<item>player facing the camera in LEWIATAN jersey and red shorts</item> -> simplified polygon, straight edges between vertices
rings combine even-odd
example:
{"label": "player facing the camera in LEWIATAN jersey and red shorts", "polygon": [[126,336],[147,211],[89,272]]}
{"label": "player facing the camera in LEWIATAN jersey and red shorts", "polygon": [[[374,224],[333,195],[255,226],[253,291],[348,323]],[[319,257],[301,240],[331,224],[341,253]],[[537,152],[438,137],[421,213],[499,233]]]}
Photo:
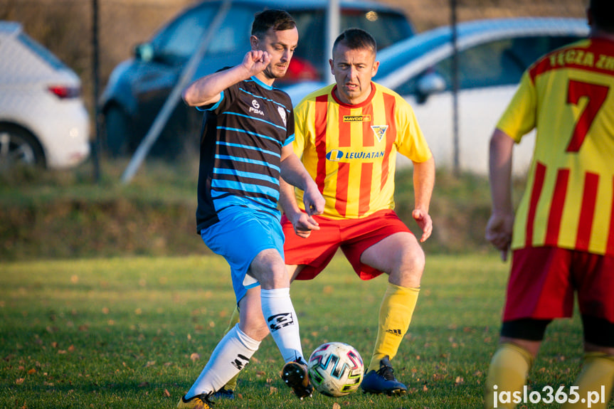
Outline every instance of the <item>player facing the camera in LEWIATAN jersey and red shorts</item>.
{"label": "player facing the camera in LEWIATAN jersey and red shorts", "polygon": [[403,394],[407,387],[396,380],[391,360],[411,322],[425,255],[393,210],[396,154],[413,161],[412,216],[423,230],[420,242],[433,228],[428,209],[435,161],[411,106],[371,80],[379,67],[374,38],[350,28],[334,42],[332,57],[335,83],[297,105],[292,144],[326,205],[322,215],[312,216],[302,204],[304,193],[282,183],[286,265],[293,280],[311,280],[341,248],[361,280],[388,275],[361,388]]}

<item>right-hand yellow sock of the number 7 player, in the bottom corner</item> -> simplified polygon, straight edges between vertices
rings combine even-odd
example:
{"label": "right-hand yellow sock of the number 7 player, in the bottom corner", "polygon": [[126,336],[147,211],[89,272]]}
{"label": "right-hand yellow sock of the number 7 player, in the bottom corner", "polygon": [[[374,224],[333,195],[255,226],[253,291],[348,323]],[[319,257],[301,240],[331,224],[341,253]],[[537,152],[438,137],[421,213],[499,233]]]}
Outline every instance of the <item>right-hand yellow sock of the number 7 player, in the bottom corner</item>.
{"label": "right-hand yellow sock of the number 7 player, in the bottom corner", "polygon": [[[614,383],[614,356],[602,352],[584,354],[582,370],[573,386],[578,386],[578,402],[564,403],[561,409],[591,408],[605,409],[610,402]],[[586,400],[583,403],[583,400]]]}

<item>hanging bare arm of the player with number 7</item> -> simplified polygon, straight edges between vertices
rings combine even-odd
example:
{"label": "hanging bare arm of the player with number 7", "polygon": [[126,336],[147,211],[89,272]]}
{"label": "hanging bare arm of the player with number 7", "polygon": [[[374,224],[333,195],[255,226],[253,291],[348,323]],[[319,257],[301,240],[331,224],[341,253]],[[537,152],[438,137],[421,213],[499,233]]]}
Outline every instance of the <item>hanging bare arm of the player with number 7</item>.
{"label": "hanging bare arm of the player with number 7", "polygon": [[514,139],[500,129],[490,138],[489,178],[492,213],[486,225],[486,240],[507,260],[512,243],[514,209],[512,206],[512,150]]}

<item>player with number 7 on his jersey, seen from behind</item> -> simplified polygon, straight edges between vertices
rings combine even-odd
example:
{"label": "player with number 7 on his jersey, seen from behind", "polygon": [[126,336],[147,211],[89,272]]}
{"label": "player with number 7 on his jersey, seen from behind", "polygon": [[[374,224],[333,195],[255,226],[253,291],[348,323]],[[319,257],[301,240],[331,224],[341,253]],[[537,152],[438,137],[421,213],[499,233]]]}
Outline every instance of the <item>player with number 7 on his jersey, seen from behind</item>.
{"label": "player with number 7 on his jersey, seen from behind", "polygon": [[[586,40],[526,70],[490,141],[493,204],[486,238],[504,260],[511,247],[512,267],[485,408],[516,406],[507,398],[522,391],[546,326],[571,317],[574,293],[584,333],[574,382],[581,399],[562,408],[586,408],[587,393],[602,387],[606,396],[591,407],[608,407],[614,383],[614,2],[591,0],[587,16]],[[534,128],[534,156],[514,217],[513,145]]]}

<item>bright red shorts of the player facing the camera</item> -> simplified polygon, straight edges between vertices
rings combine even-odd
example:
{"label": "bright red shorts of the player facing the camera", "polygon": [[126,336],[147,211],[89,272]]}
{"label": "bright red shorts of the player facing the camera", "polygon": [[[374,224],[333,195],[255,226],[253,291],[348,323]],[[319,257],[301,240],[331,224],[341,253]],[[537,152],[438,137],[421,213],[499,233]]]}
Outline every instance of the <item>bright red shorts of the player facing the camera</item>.
{"label": "bright red shorts of the player facing the camera", "polygon": [[319,230],[313,230],[308,238],[302,238],[295,234],[292,223],[282,216],[285,263],[305,265],[297,280],[312,280],[316,277],[332,260],[338,248],[341,248],[361,280],[371,280],[380,275],[381,271],[361,263],[362,252],[394,233],[411,233],[391,210],[377,211],[359,219],[314,218],[319,224]]}

